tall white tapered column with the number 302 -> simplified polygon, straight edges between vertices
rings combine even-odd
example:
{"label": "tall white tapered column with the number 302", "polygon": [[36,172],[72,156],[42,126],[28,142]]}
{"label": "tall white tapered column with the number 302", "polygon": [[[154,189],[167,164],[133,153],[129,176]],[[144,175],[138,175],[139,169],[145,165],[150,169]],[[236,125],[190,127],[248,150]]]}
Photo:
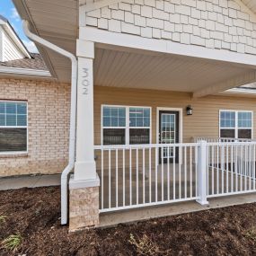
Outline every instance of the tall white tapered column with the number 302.
{"label": "tall white tapered column with the number 302", "polygon": [[77,40],[77,119],[75,181],[97,179],[94,161],[93,58],[94,43]]}

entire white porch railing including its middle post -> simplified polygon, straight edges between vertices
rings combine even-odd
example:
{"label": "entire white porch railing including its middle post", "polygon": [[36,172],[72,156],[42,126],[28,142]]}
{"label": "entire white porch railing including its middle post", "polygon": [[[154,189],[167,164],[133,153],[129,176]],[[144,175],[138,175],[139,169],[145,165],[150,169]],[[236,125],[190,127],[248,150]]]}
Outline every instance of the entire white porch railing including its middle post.
{"label": "entire white porch railing including its middle post", "polygon": [[94,146],[100,212],[256,192],[256,142]]}

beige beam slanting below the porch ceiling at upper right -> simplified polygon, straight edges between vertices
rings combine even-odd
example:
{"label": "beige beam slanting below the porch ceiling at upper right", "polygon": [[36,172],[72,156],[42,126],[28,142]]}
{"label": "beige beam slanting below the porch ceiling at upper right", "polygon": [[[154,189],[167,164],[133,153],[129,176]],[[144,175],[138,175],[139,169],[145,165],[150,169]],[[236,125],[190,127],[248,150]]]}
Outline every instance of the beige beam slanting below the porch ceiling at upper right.
{"label": "beige beam slanting below the porch ceiling at upper right", "polygon": [[204,87],[193,93],[193,98],[199,98],[207,96],[214,93],[224,92],[225,90],[238,87],[244,84],[251,84],[256,81],[256,71],[245,73],[244,75],[238,75],[232,79],[226,80],[222,83],[212,84],[210,86]]}

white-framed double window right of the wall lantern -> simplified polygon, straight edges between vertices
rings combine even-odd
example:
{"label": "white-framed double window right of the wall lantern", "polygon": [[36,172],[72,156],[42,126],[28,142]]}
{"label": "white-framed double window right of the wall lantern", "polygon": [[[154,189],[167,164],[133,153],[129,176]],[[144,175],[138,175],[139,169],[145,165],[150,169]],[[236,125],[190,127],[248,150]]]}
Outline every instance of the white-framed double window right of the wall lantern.
{"label": "white-framed double window right of the wall lantern", "polygon": [[252,111],[220,111],[220,137],[252,138]]}

